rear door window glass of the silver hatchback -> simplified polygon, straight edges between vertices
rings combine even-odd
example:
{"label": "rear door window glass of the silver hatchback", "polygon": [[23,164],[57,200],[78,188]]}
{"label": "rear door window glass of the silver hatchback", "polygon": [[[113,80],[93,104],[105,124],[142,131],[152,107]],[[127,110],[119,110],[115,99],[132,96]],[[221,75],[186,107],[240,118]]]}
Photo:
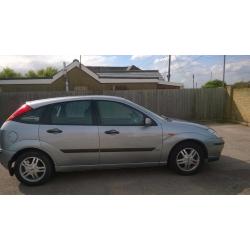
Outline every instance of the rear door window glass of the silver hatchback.
{"label": "rear door window glass of the silver hatchback", "polygon": [[50,123],[55,125],[92,125],[90,101],[57,103],[51,107]]}

